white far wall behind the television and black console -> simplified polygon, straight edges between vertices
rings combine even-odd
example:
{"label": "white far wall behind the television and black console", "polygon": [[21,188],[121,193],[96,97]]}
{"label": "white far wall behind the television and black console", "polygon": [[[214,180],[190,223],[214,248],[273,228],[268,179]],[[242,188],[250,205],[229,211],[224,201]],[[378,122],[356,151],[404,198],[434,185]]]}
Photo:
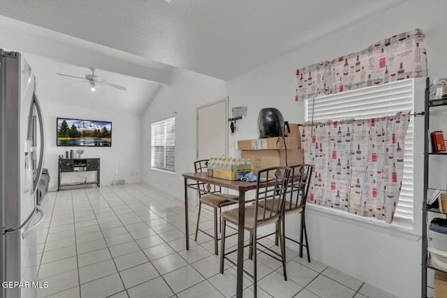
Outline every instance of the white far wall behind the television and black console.
{"label": "white far wall behind the television and black console", "polygon": [[[57,117],[112,121],[112,147],[82,147],[85,149],[82,157],[101,158],[101,185],[110,185],[113,180],[118,179],[124,179],[126,183],[142,181],[142,115],[117,110],[46,104],[45,96],[50,95],[40,94],[39,99],[42,101],[45,121],[44,167],[50,172],[49,191],[57,189],[57,156],[65,156],[65,151],[78,149],[56,146]],[[86,175],[89,175],[89,179],[94,179],[94,172],[71,173],[63,174],[62,183],[82,181],[78,176]]]}

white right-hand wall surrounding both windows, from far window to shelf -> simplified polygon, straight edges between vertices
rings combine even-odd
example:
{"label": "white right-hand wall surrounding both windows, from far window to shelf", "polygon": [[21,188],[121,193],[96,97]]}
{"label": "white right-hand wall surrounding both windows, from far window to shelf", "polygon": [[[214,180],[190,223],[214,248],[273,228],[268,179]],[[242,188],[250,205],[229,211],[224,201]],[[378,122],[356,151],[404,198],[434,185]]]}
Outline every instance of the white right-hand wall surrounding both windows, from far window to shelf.
{"label": "white right-hand wall surrounding both windows, from far window to shelf", "polygon": [[[446,77],[447,49],[445,29],[447,2],[444,0],[406,1],[381,15],[342,31],[332,32],[314,43],[279,57],[249,73],[227,82],[230,107],[247,106],[247,117],[237,121],[237,131],[230,137],[244,140],[257,137],[256,120],[263,107],[277,107],[284,119],[291,123],[303,121],[303,105],[296,103],[295,70],[318,61],[365,49],[377,40],[397,33],[420,28],[425,33],[430,77]],[[305,28],[304,28],[305,29]],[[303,29],[303,30],[304,30]],[[328,28],[328,31],[330,29]],[[272,41],[274,42],[274,41]],[[183,197],[182,172],[191,172],[195,156],[196,129],[195,108],[226,96],[225,84],[212,87],[193,73],[178,71],[175,83],[163,87],[160,94],[145,114],[145,181],[177,198]],[[203,80],[203,81],[202,81]],[[193,84],[191,84],[193,81]],[[217,87],[217,88],[216,88]],[[199,90],[207,96],[194,96]],[[184,94],[184,96],[180,96]],[[185,100],[184,100],[185,99]],[[150,170],[150,123],[170,117],[177,110],[177,174]],[[148,139],[149,138],[149,139]],[[237,142],[235,142],[237,144]],[[229,148],[231,156],[239,154],[235,147]],[[416,158],[422,159],[420,155]],[[418,163],[416,171],[422,171]],[[415,184],[415,194],[422,193],[422,181]],[[414,232],[399,228],[362,224],[349,218],[338,218],[318,210],[309,209],[307,223],[312,258],[335,269],[355,276],[398,297],[420,297],[421,244],[420,244],[420,196],[416,195]],[[289,219],[296,222],[296,218]],[[289,227],[291,225],[289,224]],[[416,233],[416,235],[414,234]]]}

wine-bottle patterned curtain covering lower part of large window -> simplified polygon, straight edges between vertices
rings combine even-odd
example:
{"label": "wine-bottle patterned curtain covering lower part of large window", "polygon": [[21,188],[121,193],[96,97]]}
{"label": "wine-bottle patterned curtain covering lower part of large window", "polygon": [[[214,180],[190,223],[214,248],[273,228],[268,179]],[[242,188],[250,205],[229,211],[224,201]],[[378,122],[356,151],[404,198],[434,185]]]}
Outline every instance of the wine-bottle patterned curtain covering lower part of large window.
{"label": "wine-bottle patterned curtain covering lower part of large window", "polygon": [[404,172],[410,113],[304,124],[305,163],[314,165],[309,201],[393,221]]}

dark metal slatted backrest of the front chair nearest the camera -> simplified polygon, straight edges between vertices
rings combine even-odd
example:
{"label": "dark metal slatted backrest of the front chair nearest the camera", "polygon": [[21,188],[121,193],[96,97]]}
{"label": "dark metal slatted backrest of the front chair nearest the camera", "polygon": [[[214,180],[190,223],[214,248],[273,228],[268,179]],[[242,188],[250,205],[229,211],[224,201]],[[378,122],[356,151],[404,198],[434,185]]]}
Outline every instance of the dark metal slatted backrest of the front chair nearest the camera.
{"label": "dark metal slatted backrest of the front chair nearest the camera", "polygon": [[[272,221],[283,214],[290,174],[291,168],[282,166],[268,167],[258,171],[254,217],[256,225]],[[268,201],[272,204],[265,208]]]}

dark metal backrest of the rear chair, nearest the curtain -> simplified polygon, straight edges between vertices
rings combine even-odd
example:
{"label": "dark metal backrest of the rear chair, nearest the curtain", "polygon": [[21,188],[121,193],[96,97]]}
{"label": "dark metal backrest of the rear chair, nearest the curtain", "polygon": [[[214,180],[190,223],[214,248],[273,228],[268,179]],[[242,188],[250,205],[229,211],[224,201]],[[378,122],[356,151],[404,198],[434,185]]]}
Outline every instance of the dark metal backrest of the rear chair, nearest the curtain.
{"label": "dark metal backrest of the rear chair, nearest the curtain", "polygon": [[287,188],[285,210],[304,208],[309,194],[313,165],[291,165],[291,177]]}

